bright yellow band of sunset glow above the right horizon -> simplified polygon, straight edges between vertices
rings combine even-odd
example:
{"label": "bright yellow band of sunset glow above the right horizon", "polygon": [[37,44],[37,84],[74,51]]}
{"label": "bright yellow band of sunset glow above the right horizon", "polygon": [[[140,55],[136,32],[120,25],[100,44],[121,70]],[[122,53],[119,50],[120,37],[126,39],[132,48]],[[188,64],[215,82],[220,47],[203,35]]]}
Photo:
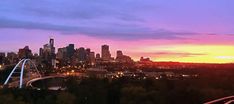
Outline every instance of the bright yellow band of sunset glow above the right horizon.
{"label": "bright yellow band of sunset glow above the right horizon", "polygon": [[155,57],[152,57],[153,54],[149,55],[154,61],[234,63],[234,46],[172,45],[167,48],[150,48],[149,50],[153,49],[161,51],[155,50]]}

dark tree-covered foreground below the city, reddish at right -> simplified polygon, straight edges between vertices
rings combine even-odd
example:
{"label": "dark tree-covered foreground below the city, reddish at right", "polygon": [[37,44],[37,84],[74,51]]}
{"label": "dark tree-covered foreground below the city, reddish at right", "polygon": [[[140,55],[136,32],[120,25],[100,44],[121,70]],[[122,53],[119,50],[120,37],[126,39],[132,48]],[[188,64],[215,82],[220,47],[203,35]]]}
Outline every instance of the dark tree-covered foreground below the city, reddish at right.
{"label": "dark tree-covered foreground below the city, reddish at right", "polygon": [[234,95],[234,69],[178,71],[199,77],[176,80],[91,77],[81,82],[70,77],[65,91],[0,89],[0,104],[202,104]]}

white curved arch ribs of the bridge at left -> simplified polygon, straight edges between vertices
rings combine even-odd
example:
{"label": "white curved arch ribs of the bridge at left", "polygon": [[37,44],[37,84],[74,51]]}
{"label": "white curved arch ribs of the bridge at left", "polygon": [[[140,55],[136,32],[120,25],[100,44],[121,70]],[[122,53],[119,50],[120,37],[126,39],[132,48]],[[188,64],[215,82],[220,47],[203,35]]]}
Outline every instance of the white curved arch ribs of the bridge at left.
{"label": "white curved arch ribs of the bridge at left", "polygon": [[20,70],[20,82],[19,82],[19,88],[22,88],[22,86],[23,86],[23,75],[24,75],[24,70],[25,70],[24,68],[25,68],[25,64],[27,62],[28,62],[28,64],[31,64],[31,65],[34,66],[35,71],[37,72],[39,77],[41,77],[41,74],[39,73],[36,65],[30,59],[22,59],[15,65],[14,69],[11,71],[10,75],[7,77],[4,85],[8,84],[8,82],[9,82],[10,78],[12,77],[13,73],[15,73],[16,69],[20,66],[20,64],[22,64],[21,65],[21,70]]}

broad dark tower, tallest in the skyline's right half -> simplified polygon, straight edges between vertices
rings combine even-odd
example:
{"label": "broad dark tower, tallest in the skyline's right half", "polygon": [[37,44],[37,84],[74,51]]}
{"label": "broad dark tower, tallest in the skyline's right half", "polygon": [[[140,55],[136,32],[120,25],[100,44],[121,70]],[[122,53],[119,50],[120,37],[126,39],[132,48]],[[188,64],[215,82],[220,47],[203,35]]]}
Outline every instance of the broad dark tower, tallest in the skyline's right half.
{"label": "broad dark tower, tallest in the skyline's right half", "polygon": [[102,45],[102,59],[109,61],[111,59],[111,54],[108,45]]}

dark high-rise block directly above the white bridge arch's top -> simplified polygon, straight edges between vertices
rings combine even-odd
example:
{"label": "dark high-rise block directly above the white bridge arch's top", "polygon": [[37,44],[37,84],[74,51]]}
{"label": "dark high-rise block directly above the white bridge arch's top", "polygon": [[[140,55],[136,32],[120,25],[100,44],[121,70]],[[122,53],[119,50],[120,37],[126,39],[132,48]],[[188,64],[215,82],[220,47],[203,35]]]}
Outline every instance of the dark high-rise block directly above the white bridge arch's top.
{"label": "dark high-rise block directly above the white bridge arch's top", "polygon": [[20,59],[31,58],[32,57],[32,51],[29,49],[28,46],[25,46],[24,48],[19,49],[18,57]]}

